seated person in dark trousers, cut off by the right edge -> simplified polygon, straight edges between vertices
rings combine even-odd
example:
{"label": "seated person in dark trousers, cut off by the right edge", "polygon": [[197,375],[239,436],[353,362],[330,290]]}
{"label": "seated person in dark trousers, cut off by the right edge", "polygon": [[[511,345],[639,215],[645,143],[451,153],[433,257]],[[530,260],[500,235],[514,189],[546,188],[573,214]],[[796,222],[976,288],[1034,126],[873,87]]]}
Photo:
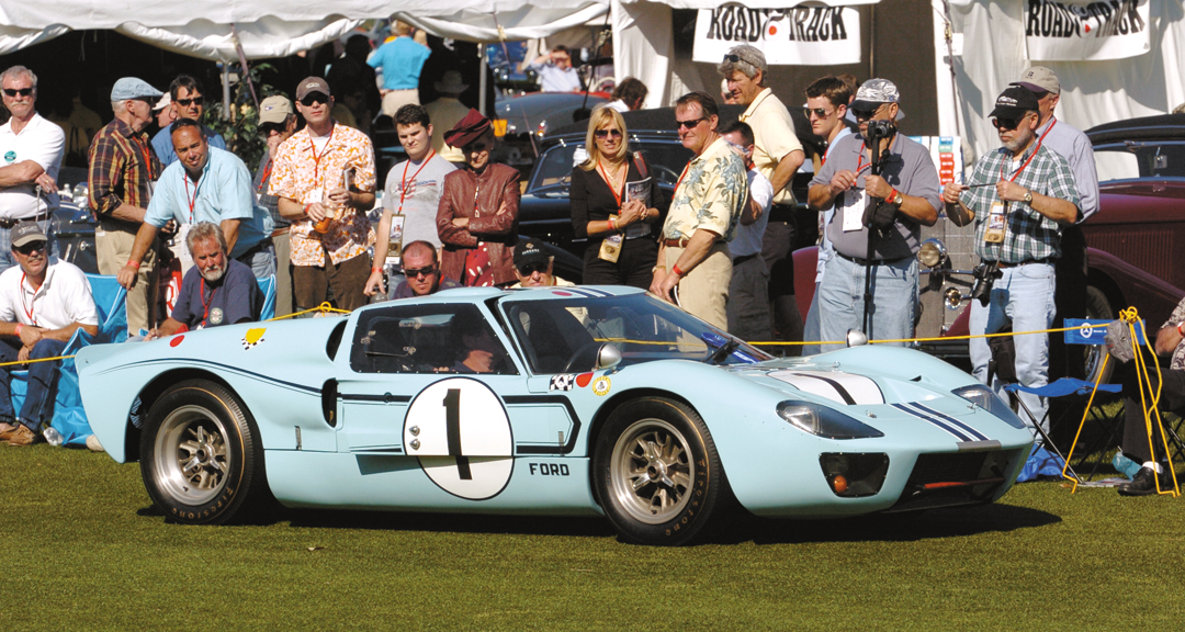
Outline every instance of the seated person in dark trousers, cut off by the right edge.
{"label": "seated person in dark trousers, cut off by the right edge", "polygon": [[[1173,315],[1160,326],[1157,333],[1157,353],[1166,356],[1173,355],[1173,362],[1167,371],[1161,370],[1164,379],[1160,384],[1160,410],[1180,410],[1185,408],[1185,299],[1177,304]],[[1157,379],[1157,371],[1149,370],[1148,377]],[[1130,483],[1119,486],[1119,493],[1123,496],[1145,496],[1173,489],[1172,470],[1167,467],[1165,460],[1165,442],[1160,435],[1160,420],[1157,413],[1152,414],[1152,428],[1144,420],[1144,404],[1140,397],[1140,385],[1135,378],[1135,371],[1128,371],[1123,381],[1123,453],[1135,462],[1142,464],[1140,471]],[[1155,383],[1152,390],[1155,391]],[[1145,395],[1147,398],[1147,395]],[[1149,434],[1151,433],[1151,434]],[[1155,453],[1155,459],[1153,459]]]}

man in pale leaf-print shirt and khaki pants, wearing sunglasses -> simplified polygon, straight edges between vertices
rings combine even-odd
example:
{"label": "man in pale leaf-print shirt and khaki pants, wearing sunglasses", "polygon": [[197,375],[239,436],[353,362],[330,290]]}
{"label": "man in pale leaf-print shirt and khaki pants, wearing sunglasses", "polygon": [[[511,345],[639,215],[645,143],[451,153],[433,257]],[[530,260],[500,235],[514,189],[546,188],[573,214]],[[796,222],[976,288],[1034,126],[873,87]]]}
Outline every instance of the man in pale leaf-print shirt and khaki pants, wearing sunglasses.
{"label": "man in pale leaf-print shirt and khaki pants, wearing sunglasses", "polygon": [[675,102],[679,140],[696,158],[684,167],[671,198],[651,292],[726,330],[732,280],[728,242],[736,235],[749,179],[744,160],[717,133],[718,111],[706,92]]}

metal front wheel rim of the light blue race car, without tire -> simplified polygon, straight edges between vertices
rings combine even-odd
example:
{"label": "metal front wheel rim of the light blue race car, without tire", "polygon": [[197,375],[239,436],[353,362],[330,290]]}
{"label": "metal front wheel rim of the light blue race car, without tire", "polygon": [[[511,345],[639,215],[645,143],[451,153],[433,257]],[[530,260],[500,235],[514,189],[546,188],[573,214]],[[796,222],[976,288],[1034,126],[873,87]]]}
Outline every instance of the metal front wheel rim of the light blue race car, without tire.
{"label": "metal front wheel rim of the light blue race car, without tire", "polygon": [[687,505],[696,464],[687,439],[658,419],[640,420],[621,433],[609,464],[610,491],[632,518],[660,524]]}

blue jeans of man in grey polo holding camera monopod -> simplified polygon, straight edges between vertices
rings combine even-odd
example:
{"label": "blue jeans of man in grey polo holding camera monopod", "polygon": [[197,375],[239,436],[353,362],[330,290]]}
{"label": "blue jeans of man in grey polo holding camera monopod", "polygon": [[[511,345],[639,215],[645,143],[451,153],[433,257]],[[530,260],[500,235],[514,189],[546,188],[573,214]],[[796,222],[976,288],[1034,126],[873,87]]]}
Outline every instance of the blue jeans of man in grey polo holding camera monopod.
{"label": "blue jeans of man in grey polo holding camera monopod", "polygon": [[[865,267],[839,256],[831,257],[815,294],[819,304],[819,338],[839,341],[847,330],[864,331]],[[870,340],[898,340],[914,336],[917,313],[917,257],[899,258],[872,267]],[[893,343],[905,346],[905,343]],[[821,345],[822,351],[843,345]]]}

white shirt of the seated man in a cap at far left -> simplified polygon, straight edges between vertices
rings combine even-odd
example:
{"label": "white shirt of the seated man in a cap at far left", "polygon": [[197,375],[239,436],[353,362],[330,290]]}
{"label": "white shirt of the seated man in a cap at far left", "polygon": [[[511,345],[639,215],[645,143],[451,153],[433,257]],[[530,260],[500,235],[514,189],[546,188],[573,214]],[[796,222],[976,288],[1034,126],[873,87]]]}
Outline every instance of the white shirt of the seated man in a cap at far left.
{"label": "white shirt of the seated man in a cap at far left", "polygon": [[59,330],[73,323],[98,325],[98,312],[87,275],[73,263],[50,257],[45,282],[36,291],[20,266],[0,274],[0,321]]}

